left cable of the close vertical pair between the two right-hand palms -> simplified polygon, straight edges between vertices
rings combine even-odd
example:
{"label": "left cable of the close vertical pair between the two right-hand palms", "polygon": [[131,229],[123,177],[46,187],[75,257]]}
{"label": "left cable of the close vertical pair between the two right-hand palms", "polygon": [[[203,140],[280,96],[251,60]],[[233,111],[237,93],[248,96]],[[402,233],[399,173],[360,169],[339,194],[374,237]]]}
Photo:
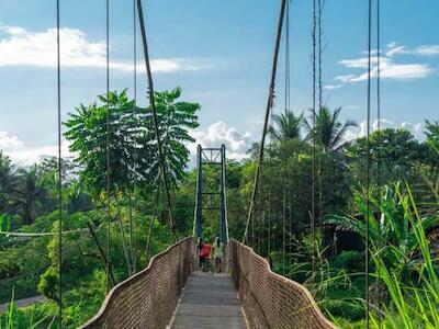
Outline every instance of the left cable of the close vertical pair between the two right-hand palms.
{"label": "left cable of the close vertical pair between the two right-hand palms", "polygon": [[313,181],[312,181],[312,209],[311,209],[311,227],[313,238],[313,256],[312,262],[312,274],[314,277],[315,273],[315,253],[316,253],[316,229],[315,229],[315,196],[316,196],[316,1],[313,1]]}

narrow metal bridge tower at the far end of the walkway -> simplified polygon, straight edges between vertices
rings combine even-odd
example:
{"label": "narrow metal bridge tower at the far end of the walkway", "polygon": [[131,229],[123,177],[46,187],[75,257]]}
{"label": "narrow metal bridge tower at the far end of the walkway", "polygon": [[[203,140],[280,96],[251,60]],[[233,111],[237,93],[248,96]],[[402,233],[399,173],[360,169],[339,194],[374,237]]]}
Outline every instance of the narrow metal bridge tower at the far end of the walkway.
{"label": "narrow metal bridge tower at the far end of the walkway", "polygon": [[[205,190],[203,180],[204,167],[219,167],[219,186],[210,184]],[[215,189],[216,188],[216,189]],[[203,211],[219,211],[219,239],[223,243],[228,242],[227,225],[227,201],[226,201],[226,147],[223,144],[221,148],[196,147],[196,191],[195,191],[195,211],[193,222],[193,235],[203,236]]]}

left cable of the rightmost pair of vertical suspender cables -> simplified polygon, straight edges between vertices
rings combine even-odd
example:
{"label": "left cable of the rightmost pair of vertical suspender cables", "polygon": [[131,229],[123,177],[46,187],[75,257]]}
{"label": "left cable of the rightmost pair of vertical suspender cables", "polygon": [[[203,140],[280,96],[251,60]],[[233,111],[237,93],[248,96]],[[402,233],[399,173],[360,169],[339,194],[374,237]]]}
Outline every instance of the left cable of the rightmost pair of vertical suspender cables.
{"label": "left cable of the rightmost pair of vertical suspender cables", "polygon": [[369,328],[369,217],[370,217],[370,113],[371,113],[371,46],[372,46],[372,0],[369,0],[369,31],[368,31],[368,113],[367,113],[367,156],[365,156],[365,250],[364,250],[364,275],[365,275],[365,325]]}

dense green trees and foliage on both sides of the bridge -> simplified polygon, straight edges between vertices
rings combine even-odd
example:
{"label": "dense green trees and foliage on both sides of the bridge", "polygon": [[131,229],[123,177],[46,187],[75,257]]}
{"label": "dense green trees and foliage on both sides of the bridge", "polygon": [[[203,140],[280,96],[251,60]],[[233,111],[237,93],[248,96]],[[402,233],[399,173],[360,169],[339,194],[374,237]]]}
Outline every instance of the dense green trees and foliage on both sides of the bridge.
{"label": "dense green trees and foliage on both sides of the bridge", "polygon": [[[172,183],[172,215],[183,237],[192,232],[196,172],[187,168],[187,145],[194,141],[189,133],[198,127],[200,105],[181,102],[180,97],[180,89],[156,94],[159,134]],[[365,139],[346,139],[356,124],[341,122],[340,112],[322,107],[315,123],[312,116],[305,120],[292,112],[273,117],[248,243],[270,260],[274,271],[307,286],[340,327],[363,328],[363,241],[369,219],[369,293],[373,306],[381,303],[381,313],[372,307],[372,326],[380,319],[384,328],[436,328],[438,123],[426,123],[426,141],[404,129],[372,133],[372,184],[367,191]],[[114,283],[144,268],[151,254],[171,242],[171,234],[149,109],[136,106],[126,91],[111,92],[109,100],[100,97],[95,103],[78,106],[66,127],[77,158],[63,160],[63,229],[67,231],[63,302],[64,325],[74,328],[98,310],[106,293],[108,228],[109,272]],[[246,225],[257,151],[255,145],[248,158],[227,161],[229,236],[237,239]],[[217,168],[205,169],[203,175],[206,186],[217,184]],[[46,328],[56,317],[57,180],[57,159],[23,169],[0,152],[1,230],[53,234],[0,235],[0,302],[38,294],[47,298],[25,308],[12,305],[0,316],[0,328],[10,324]],[[313,205],[316,241],[311,236]],[[204,212],[206,240],[217,235],[218,218],[217,212]]]}

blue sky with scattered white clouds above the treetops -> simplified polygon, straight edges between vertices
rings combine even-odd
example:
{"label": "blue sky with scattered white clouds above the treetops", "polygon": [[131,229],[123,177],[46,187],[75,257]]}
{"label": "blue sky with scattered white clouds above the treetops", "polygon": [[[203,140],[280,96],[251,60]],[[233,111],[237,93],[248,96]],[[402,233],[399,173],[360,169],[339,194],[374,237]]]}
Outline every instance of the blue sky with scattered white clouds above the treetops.
{"label": "blue sky with scattered white clouds above the treetops", "polygon": [[[184,100],[201,103],[201,127],[193,135],[205,146],[226,143],[236,158],[259,139],[279,2],[144,1],[156,89],[179,86]],[[439,1],[381,2],[382,116],[386,125],[420,136],[425,118],[439,118]],[[110,3],[111,89],[132,92],[133,2]],[[61,0],[64,117],[105,91],[104,4]],[[323,16],[324,100],[359,124],[367,104],[367,5],[326,0]],[[55,1],[0,0],[0,148],[31,162],[56,145]],[[312,104],[311,29],[312,1],[292,1],[291,103],[297,113]],[[138,58],[142,67],[140,48]],[[283,61],[282,44],[277,112],[283,111]],[[137,79],[145,104],[145,76]]]}

